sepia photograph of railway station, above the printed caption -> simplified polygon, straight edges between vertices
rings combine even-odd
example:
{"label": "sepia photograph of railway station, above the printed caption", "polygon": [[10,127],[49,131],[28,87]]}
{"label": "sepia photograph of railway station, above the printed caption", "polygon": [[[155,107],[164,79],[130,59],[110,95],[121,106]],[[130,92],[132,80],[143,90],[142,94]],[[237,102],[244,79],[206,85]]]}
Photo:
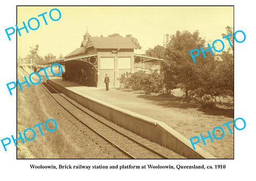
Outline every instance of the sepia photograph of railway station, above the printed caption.
{"label": "sepia photograph of railway station, above the printed caption", "polygon": [[18,5],[5,31],[17,159],[234,159],[233,5]]}

